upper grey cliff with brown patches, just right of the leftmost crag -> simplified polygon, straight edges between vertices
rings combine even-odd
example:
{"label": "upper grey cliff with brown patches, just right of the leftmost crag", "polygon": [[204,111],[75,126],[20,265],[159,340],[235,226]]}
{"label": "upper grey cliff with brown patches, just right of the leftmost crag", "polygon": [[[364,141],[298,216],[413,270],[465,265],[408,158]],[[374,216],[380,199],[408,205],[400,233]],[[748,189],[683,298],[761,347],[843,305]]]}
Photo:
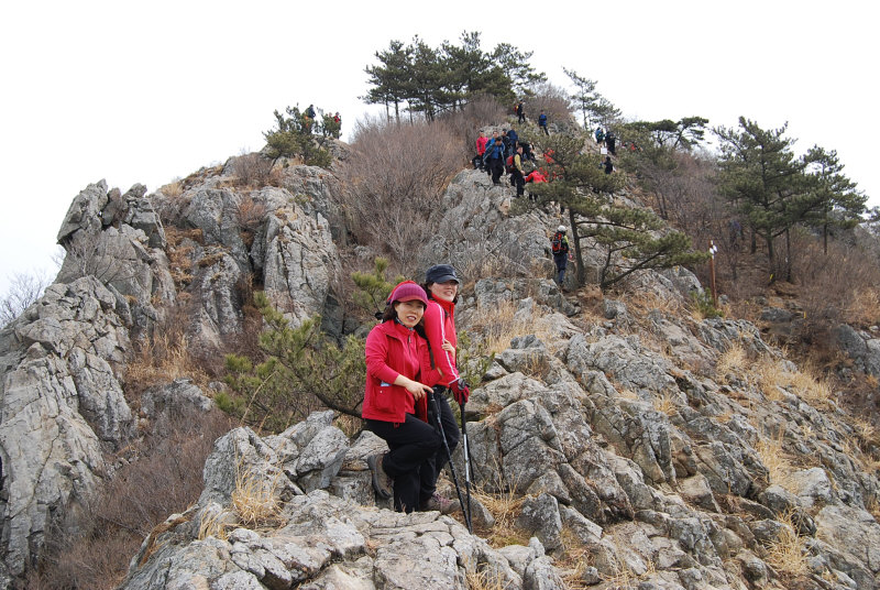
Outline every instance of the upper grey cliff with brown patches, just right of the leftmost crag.
{"label": "upper grey cliff with brown patches, just right of the leftmost crag", "polygon": [[332,185],[320,168],[296,166],[287,188],[237,190],[210,177],[184,195],[152,195],[169,225],[200,230],[190,242],[190,292],[197,303],[190,334],[217,348],[242,328],[242,286],[262,285],[270,301],[298,325],[324,315],[340,262],[328,216]]}

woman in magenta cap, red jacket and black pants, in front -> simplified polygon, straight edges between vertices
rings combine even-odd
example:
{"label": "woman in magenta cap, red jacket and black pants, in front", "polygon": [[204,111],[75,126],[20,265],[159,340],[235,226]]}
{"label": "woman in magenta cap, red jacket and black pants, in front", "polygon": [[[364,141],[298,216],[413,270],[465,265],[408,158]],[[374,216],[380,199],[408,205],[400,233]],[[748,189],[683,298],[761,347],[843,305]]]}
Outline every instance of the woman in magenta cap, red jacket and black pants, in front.
{"label": "woman in magenta cap, red jacket and black pants, in front", "polygon": [[[394,509],[413,512],[433,493],[433,457],[442,439],[428,424],[428,394],[438,378],[428,342],[416,331],[428,297],[413,281],[394,287],[382,324],[366,337],[366,391],[361,416],[366,428],[388,444],[388,452],[367,459],[373,487]],[[393,491],[392,491],[393,488]]]}

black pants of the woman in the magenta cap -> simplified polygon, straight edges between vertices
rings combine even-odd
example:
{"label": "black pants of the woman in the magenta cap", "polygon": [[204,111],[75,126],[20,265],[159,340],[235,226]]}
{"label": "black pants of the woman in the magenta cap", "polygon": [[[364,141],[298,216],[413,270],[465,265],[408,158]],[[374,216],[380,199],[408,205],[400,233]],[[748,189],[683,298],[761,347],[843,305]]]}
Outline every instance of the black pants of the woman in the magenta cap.
{"label": "black pants of the woman in the magenta cap", "polygon": [[394,510],[417,510],[437,487],[435,458],[443,446],[440,434],[413,414],[407,414],[403,424],[367,419],[366,428],[388,444],[382,467],[394,479]]}

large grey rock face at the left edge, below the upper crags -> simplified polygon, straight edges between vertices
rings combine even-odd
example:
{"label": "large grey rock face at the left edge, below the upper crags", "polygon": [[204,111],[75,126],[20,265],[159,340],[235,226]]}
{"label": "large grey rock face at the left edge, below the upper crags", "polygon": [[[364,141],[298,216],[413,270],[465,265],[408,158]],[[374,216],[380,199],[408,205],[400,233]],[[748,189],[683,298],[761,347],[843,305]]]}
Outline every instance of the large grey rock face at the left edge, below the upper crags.
{"label": "large grey rock face at the left edge, below the upper crags", "polygon": [[91,493],[101,447],[133,434],[117,374],[130,348],[117,305],[94,277],[56,283],[0,332],[2,560],[12,573],[35,557],[55,511]]}

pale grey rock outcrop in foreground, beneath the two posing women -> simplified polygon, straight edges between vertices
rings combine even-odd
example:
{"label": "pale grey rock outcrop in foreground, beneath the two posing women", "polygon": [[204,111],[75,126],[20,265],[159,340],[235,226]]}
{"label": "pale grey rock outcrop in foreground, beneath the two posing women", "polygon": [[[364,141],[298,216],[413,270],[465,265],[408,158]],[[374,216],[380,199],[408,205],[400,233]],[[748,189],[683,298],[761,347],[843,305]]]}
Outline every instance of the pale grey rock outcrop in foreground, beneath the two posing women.
{"label": "pale grey rock outcrop in foreground, beneath the two posing women", "polygon": [[[438,512],[375,506],[364,459],[383,446],[369,433],[350,442],[330,412],[276,436],[229,433],[197,505],[146,538],[121,589],[464,589],[477,572],[503,588],[565,588],[537,539],[508,559]],[[271,506],[261,523],[245,521],[245,495]]]}

